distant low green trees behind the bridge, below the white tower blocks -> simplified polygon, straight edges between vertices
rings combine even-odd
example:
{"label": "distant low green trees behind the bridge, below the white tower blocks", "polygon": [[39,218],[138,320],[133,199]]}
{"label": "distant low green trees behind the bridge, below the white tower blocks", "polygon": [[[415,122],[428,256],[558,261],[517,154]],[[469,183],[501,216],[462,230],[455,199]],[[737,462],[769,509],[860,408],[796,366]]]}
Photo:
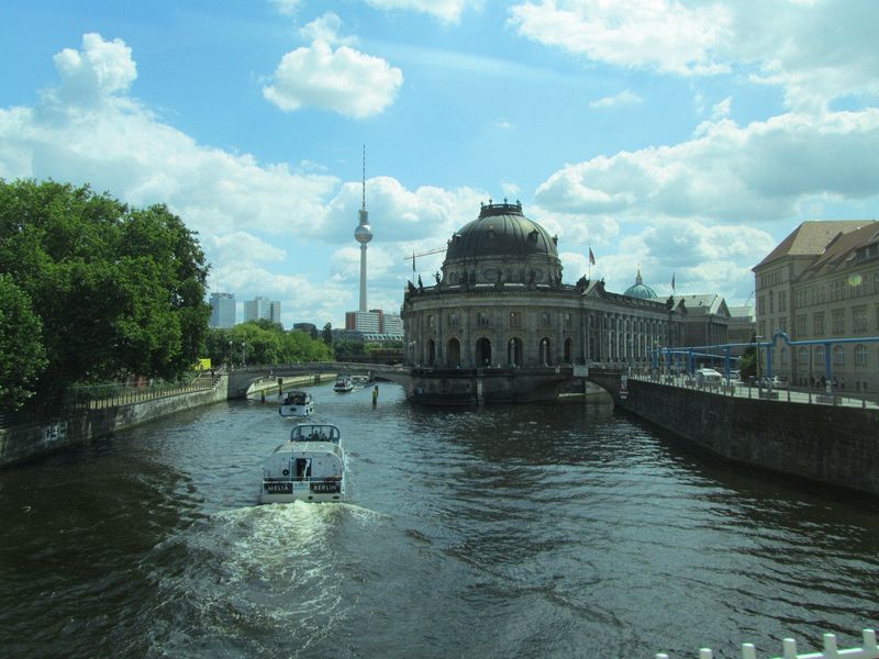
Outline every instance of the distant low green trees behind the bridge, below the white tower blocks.
{"label": "distant low green trees behind the bridge, below the white tower blocks", "polygon": [[212,364],[293,364],[297,361],[330,361],[333,351],[322,340],[307,332],[285,332],[277,323],[255,321],[231,328],[209,330],[207,355]]}

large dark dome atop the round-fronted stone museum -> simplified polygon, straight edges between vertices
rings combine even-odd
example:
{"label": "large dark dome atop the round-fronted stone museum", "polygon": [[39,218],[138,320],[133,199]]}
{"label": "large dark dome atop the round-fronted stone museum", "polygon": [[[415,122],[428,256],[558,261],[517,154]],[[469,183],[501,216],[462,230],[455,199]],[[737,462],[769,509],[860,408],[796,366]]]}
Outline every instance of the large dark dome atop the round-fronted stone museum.
{"label": "large dark dome atop the round-fronted stone museum", "polygon": [[461,259],[544,256],[558,259],[556,238],[522,214],[521,203],[482,205],[479,217],[455,232],[446,263]]}

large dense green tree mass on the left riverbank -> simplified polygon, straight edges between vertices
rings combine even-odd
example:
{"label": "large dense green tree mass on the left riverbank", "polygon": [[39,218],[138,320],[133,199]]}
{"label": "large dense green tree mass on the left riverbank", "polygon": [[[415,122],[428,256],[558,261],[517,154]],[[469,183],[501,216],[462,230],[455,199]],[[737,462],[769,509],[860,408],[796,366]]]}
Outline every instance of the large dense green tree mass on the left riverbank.
{"label": "large dense green tree mass on the left riverbank", "polygon": [[88,186],[0,180],[0,273],[43,324],[41,389],[125,373],[175,379],[210,319],[194,234],[164,205],[130,209]]}

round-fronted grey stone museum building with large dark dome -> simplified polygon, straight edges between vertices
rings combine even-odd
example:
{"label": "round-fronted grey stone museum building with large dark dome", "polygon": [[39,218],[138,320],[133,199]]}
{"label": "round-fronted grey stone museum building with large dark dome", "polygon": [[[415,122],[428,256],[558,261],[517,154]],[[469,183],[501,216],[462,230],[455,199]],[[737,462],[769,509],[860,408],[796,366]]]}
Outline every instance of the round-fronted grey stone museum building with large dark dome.
{"label": "round-fronted grey stone museum building with large dark dome", "polygon": [[408,284],[401,315],[410,396],[548,400],[571,380],[574,365],[644,366],[652,346],[677,345],[676,311],[649,287],[649,298],[630,297],[586,277],[563,283],[561,275],[558,238],[521,203],[482,204],[449,238],[436,283],[419,277]]}

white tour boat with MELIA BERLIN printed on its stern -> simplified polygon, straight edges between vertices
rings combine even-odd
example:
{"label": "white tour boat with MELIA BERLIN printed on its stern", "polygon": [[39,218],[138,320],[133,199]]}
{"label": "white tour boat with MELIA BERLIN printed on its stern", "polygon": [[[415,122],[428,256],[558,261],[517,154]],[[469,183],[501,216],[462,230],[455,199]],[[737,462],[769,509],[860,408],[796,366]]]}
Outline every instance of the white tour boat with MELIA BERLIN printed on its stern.
{"label": "white tour boat with MELIA BERLIN printed on its stern", "polygon": [[263,462],[260,503],[344,501],[345,453],[338,427],[330,423],[301,423],[290,440]]}

